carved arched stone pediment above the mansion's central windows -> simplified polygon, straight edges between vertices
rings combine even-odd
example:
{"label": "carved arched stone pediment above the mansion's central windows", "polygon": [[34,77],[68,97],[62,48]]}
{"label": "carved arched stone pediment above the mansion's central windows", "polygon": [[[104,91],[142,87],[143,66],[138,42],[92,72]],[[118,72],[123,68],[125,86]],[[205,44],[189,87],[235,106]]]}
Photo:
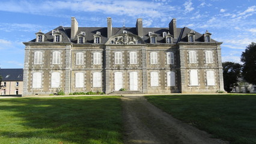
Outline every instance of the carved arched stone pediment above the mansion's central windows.
{"label": "carved arched stone pediment above the mansion's central windows", "polygon": [[113,37],[109,38],[106,44],[120,44],[120,45],[127,45],[127,44],[144,44],[144,41],[138,35],[133,34],[120,34],[114,35]]}

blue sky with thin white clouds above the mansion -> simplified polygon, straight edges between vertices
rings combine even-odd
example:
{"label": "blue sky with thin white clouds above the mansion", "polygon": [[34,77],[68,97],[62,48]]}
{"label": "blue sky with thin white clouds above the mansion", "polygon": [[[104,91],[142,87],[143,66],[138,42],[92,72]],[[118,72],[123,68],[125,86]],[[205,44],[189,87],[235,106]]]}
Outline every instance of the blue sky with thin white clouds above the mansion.
{"label": "blue sky with thin white clouds above the mansion", "polygon": [[70,26],[76,17],[79,26],[104,26],[112,18],[114,27],[135,27],[142,18],[144,27],[167,28],[171,19],[201,34],[206,30],[222,41],[222,62],[240,62],[246,46],[256,42],[255,0],[9,0],[0,1],[0,67],[23,68],[22,42],[35,32],[49,32]]}

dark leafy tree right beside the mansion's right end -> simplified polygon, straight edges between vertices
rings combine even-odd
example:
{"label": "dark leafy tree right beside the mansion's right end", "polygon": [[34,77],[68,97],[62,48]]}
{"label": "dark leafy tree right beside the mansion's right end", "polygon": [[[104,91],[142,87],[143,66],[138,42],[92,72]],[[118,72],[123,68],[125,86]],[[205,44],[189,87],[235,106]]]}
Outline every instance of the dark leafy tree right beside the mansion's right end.
{"label": "dark leafy tree right beside the mansion's right end", "polygon": [[242,65],[236,62],[222,62],[224,89],[227,92],[232,91],[234,86],[237,86],[239,77],[241,77]]}

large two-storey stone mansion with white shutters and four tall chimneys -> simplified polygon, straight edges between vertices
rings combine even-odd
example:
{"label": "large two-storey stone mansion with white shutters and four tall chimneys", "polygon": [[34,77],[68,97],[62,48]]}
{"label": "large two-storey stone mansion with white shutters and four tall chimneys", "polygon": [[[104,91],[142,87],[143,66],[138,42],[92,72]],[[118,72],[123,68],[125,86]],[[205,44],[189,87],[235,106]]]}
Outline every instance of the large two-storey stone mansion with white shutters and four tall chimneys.
{"label": "large two-storey stone mansion with white shutters and four tall chimneys", "polygon": [[[189,28],[80,28],[36,33],[25,42],[23,95],[124,88],[144,94],[224,91],[221,43]],[[40,36],[41,35],[41,36]],[[191,35],[191,36],[190,36]],[[207,41],[206,41],[207,39]],[[35,74],[34,74],[35,73]]]}

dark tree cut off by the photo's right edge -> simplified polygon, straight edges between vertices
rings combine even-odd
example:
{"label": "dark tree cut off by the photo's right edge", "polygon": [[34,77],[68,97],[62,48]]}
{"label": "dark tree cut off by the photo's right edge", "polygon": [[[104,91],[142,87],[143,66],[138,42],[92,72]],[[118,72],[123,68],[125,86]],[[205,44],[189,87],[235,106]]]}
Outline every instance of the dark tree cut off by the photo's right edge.
{"label": "dark tree cut off by the photo's right edge", "polygon": [[256,85],[256,43],[249,44],[242,52],[242,76],[248,83]]}

